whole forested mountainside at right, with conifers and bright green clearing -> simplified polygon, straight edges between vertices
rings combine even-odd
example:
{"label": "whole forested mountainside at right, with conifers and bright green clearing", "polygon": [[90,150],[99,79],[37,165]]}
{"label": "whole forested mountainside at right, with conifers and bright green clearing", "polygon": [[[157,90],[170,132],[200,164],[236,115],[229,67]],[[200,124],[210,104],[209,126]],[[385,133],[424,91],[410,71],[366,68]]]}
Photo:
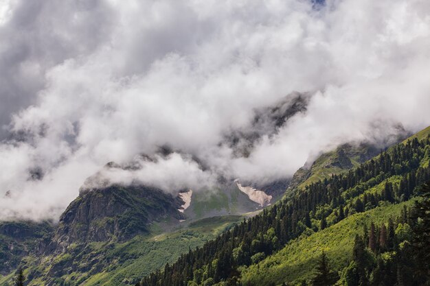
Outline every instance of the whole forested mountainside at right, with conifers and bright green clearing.
{"label": "whole forested mountainside at right, with conifers and bright green clearing", "polygon": [[[426,132],[296,189],[139,285],[308,285],[323,251],[341,274],[338,285],[424,285],[430,279]],[[336,167],[349,165],[336,154]]]}

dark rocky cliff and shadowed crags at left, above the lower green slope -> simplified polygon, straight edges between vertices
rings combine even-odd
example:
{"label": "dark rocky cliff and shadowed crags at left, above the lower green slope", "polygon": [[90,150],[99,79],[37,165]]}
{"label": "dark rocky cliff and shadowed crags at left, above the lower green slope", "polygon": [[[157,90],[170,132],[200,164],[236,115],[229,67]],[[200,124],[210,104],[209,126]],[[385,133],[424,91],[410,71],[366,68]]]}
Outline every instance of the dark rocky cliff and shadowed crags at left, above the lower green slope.
{"label": "dark rocky cliff and shadowed crags at left, above the lower green slope", "polygon": [[28,267],[27,256],[33,266],[43,265],[28,270],[27,278],[43,278],[46,285],[60,285],[56,279],[74,272],[97,274],[118,263],[118,257],[96,251],[95,245],[113,251],[118,243],[150,233],[152,224],[177,224],[185,218],[178,210],[182,204],[181,198],[156,188],[112,185],[81,191],[56,226],[0,222],[0,274]]}

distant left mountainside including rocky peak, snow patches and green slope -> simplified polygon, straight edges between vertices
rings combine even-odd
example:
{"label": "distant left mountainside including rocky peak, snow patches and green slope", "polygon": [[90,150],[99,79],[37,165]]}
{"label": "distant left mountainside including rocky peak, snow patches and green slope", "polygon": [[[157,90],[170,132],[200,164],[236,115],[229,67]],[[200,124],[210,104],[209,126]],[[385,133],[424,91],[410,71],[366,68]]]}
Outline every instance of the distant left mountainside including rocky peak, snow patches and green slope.
{"label": "distant left mountainside including rocky peak, snow patches and green slope", "polygon": [[[108,163],[104,169],[131,167],[139,166]],[[270,200],[260,202],[253,195],[271,198],[263,191],[247,186],[243,187],[251,192],[240,191],[238,182],[222,186],[172,195],[142,184],[110,184],[101,171],[85,182],[78,198],[69,204],[58,224],[49,224],[44,237],[29,237],[34,239],[32,248],[18,251],[24,246],[15,247],[4,256],[10,262],[0,266],[5,275],[0,277],[0,285],[10,281],[17,267],[25,268],[30,285],[91,285],[100,279],[104,285],[134,284],[140,276],[167,261],[173,263],[189,248],[203,245],[270,204]],[[284,189],[271,186],[272,191],[281,193],[278,188]],[[26,226],[17,227],[23,232]],[[13,238],[0,237],[0,241],[9,246]],[[91,280],[95,276],[98,281]]]}

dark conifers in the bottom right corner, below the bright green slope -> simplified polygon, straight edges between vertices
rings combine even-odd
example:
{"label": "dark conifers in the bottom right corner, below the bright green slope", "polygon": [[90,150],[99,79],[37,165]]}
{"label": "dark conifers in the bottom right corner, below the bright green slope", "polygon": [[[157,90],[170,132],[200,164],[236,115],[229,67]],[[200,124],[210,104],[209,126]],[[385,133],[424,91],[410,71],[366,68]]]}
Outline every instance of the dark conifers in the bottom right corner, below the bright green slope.
{"label": "dark conifers in the bottom right corner, below the bright green slope", "polygon": [[[387,224],[370,224],[357,235],[352,261],[338,273],[322,252],[311,285],[414,286],[430,283],[430,183],[422,187],[414,208],[403,208]],[[283,283],[288,285],[288,283]]]}

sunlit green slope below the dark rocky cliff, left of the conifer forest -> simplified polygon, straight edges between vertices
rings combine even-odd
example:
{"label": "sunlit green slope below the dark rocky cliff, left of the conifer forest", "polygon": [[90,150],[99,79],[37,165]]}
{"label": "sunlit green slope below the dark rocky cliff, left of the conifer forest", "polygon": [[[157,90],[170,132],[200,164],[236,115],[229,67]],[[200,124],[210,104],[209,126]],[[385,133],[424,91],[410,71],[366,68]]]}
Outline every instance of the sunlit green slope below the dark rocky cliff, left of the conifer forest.
{"label": "sunlit green slope below the dark rocky cliff, left of the conifer forest", "polygon": [[[73,272],[61,277],[65,285],[134,285],[139,278],[162,268],[166,263],[173,263],[188,249],[203,245],[213,239],[232,224],[243,219],[242,216],[224,216],[202,219],[188,227],[172,233],[156,233],[148,236],[137,236],[125,243],[91,243],[91,252],[85,254],[79,263],[84,263],[94,257],[102,257],[111,261],[108,267],[100,273],[95,270],[87,272]],[[35,257],[26,257],[27,275],[31,272],[41,272],[49,276],[53,264],[73,261],[69,254],[60,254],[56,257],[45,257],[38,261]],[[0,278],[0,285],[10,281],[11,276]],[[28,285],[45,285],[43,278],[34,279]]]}

